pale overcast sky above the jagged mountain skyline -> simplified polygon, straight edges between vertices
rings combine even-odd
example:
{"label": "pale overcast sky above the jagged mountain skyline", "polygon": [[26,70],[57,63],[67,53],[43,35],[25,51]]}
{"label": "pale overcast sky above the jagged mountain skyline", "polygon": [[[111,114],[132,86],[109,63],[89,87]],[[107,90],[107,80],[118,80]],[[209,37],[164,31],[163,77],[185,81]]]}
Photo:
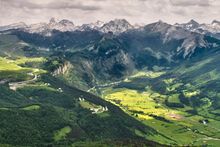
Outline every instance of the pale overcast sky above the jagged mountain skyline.
{"label": "pale overcast sky above the jagged mountain skyline", "polygon": [[220,0],[0,0],[0,25],[48,22],[51,17],[75,24],[125,18],[132,24],[163,20],[220,20]]}

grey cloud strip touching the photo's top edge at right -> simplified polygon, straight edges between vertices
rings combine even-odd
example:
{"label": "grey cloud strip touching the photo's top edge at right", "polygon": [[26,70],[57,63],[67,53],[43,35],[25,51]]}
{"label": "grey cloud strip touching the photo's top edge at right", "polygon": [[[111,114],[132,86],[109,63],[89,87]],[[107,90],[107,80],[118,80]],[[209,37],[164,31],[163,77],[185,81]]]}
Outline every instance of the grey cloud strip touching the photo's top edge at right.
{"label": "grey cloud strip touching the photo's top edge at right", "polygon": [[210,6],[209,0],[170,0],[171,4],[174,6],[200,6],[207,7]]}

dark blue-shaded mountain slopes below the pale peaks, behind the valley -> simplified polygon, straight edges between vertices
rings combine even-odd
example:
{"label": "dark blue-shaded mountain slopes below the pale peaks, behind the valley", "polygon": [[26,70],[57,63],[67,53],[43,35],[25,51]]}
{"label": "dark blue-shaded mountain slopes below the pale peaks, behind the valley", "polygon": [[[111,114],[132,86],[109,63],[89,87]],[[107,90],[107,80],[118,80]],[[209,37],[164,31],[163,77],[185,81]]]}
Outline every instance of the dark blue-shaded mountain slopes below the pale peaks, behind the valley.
{"label": "dark blue-shaded mountain slopes below the pale peaks, behind the valley", "polygon": [[213,52],[219,45],[212,37],[161,21],[116,35],[91,29],[53,31],[51,36],[25,31],[12,34],[27,43],[50,49],[51,54],[60,52],[75,66],[66,77],[79,77],[78,82],[84,81],[82,83],[90,86],[109,77],[120,79],[142,68],[172,67],[183,60]]}

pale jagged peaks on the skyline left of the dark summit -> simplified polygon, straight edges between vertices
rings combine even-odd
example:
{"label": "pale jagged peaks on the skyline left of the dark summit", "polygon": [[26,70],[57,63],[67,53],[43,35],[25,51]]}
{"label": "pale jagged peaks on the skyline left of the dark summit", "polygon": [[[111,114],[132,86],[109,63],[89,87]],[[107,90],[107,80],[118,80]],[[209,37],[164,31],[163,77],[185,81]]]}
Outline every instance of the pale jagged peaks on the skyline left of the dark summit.
{"label": "pale jagged peaks on the skyline left of the dark summit", "polygon": [[132,28],[134,27],[125,19],[116,19],[108,23],[97,21],[91,24],[83,24],[82,26],[75,26],[74,23],[69,20],[64,19],[59,22],[56,22],[55,18],[51,18],[49,23],[26,25],[25,23],[21,22],[17,24],[11,24],[8,26],[0,27],[0,30],[5,31],[10,29],[22,29],[29,33],[42,33],[46,36],[49,36],[50,35],[49,32],[53,30],[57,30],[61,32],[98,30],[103,33],[113,32],[115,34],[120,34]]}

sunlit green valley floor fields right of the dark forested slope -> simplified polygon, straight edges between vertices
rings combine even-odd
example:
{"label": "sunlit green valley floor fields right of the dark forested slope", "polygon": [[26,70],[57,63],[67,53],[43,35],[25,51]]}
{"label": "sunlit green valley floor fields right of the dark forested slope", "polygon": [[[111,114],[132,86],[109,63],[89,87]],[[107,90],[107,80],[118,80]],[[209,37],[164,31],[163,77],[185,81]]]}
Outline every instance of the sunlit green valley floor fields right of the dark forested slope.
{"label": "sunlit green valley floor fields right of the dark forested slope", "polygon": [[[201,146],[204,144],[217,146],[220,143],[219,123],[214,118],[209,118],[209,123],[204,125],[200,120],[205,120],[205,114],[208,112],[199,111],[203,115],[191,115],[188,111],[193,110],[191,106],[183,105],[180,99],[179,89],[186,99],[200,96],[200,90],[194,90],[191,86],[179,83],[176,79],[161,80],[164,82],[165,92],[154,91],[153,87],[146,86],[145,90],[136,90],[139,85],[149,85],[143,80],[142,83],[136,83],[138,78],[143,79],[143,75],[135,76],[135,79],[122,83],[133,85],[129,88],[108,87],[99,89],[102,96],[107,101],[119,106],[130,116],[136,118],[147,126],[153,127],[159,132],[158,135],[148,136],[139,131],[136,133],[147,139],[160,142],[167,145],[178,146]],[[155,79],[156,77],[150,77]],[[149,78],[146,76],[146,78]],[[156,79],[155,79],[156,80]],[[121,87],[121,86],[118,86]],[[190,90],[191,89],[191,90]],[[181,95],[181,96],[182,96]],[[206,102],[205,102],[206,103]],[[181,107],[180,107],[181,106]],[[206,105],[210,107],[210,105]],[[206,109],[207,109],[206,107]],[[210,115],[210,113],[208,113]]]}

